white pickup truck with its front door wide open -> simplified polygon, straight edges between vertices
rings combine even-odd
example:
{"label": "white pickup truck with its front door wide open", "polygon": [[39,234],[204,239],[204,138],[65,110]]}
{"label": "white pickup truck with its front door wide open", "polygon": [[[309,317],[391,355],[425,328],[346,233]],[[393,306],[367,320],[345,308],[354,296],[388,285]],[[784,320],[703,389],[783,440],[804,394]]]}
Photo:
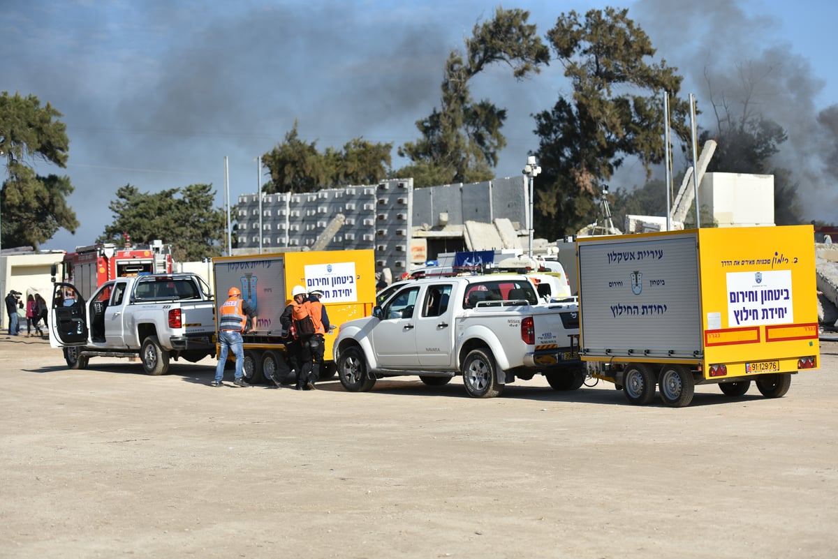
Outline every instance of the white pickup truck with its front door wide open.
{"label": "white pickup truck with its front door wide open", "polygon": [[215,356],[215,303],[197,274],[116,278],[86,301],[75,285],[55,283],[49,345],[64,348],[73,369],[92,356],[139,356],[145,372],[163,375],[172,357]]}

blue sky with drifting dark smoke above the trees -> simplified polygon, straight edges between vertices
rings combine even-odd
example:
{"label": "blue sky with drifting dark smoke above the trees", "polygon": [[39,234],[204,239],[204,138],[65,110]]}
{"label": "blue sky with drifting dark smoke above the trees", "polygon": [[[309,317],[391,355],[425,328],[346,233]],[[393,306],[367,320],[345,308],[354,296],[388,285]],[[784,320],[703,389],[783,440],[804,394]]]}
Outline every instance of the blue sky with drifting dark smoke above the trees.
{"label": "blue sky with drifting dark smoke above the trees", "polygon": [[[838,192],[838,3],[802,0],[639,0],[629,8],[667,64],[685,76],[713,129],[711,100],[741,110],[742,91],[789,133],[779,163],[800,182],[806,218],[835,218]],[[281,142],[294,121],[323,150],[357,136],[416,140],[415,122],[439,103],[447,54],[497,3],[432,0],[284,2],[245,0],[6,0],[0,90],[37,95],[63,113],[70,137],[69,202],[81,223],[44,248],[91,244],[112,215],[108,203],[128,183],[141,192],[211,183],[223,203],[256,192],[256,157]],[[530,10],[543,34],[562,12],[607,3],[504,2]],[[708,79],[713,95],[708,88]],[[537,138],[530,115],[569,93],[554,63],[516,82],[503,66],[473,84],[475,98],[508,111],[508,146],[497,175],[520,174]],[[737,105],[739,103],[739,105]],[[676,166],[684,162],[676,161]],[[632,188],[629,165],[611,182]],[[536,185],[537,186],[537,185]],[[537,232],[536,232],[537,234]],[[167,240],[167,239],[164,239]]]}

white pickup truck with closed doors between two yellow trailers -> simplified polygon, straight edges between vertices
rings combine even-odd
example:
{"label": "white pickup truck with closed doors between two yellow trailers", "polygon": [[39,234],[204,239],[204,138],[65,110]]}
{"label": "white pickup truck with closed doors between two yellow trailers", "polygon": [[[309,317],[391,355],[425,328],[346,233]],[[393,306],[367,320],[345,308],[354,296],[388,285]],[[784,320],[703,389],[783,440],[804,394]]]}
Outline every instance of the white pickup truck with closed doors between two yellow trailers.
{"label": "white pickup truck with closed doors between two yellow trailers", "polygon": [[463,375],[473,397],[498,396],[515,378],[536,374],[556,390],[575,390],[585,381],[577,305],[539,305],[524,275],[402,284],[371,316],[340,326],[334,361],[350,392],[402,375],[418,375],[430,386]]}

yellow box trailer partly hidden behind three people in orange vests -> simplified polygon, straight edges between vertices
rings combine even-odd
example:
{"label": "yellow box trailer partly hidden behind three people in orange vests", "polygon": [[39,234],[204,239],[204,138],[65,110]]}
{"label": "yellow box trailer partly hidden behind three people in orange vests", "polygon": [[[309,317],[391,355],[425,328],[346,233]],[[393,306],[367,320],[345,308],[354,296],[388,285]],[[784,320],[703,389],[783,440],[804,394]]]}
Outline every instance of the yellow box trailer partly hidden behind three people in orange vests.
{"label": "yellow box trailer partly hidden behind three people in orange vests", "polygon": [[[371,315],[375,305],[375,253],[371,249],[222,256],[214,258],[212,266],[215,315],[230,287],[238,287],[256,310],[256,328],[243,335],[245,377],[251,383],[264,382],[274,374],[283,377],[289,371],[279,317],[291,302],[295,285],[323,290],[320,301],[335,327],[323,336],[325,362],[320,380],[334,377],[332,346],[337,327]],[[282,378],[282,382],[292,381]]]}

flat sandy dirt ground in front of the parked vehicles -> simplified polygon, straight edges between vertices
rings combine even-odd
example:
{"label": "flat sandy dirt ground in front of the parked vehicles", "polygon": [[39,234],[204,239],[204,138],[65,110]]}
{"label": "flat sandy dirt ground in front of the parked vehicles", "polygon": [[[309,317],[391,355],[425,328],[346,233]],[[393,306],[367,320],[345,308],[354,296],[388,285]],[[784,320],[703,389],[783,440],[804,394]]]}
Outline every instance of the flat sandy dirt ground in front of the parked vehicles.
{"label": "flat sandy dirt ground in front of the parked vehicles", "polygon": [[838,556],[838,342],[779,399],[209,387],[0,336],[0,557]]}

